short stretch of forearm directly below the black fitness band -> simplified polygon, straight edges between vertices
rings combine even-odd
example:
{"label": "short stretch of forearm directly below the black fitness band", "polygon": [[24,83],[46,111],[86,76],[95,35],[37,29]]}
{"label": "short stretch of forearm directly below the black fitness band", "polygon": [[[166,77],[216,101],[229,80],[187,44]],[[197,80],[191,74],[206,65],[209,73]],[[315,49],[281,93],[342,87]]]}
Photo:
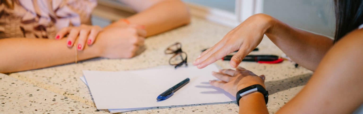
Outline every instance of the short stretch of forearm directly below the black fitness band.
{"label": "short stretch of forearm directly below the black fitness band", "polygon": [[240,114],[268,114],[264,95],[254,92],[240,99]]}

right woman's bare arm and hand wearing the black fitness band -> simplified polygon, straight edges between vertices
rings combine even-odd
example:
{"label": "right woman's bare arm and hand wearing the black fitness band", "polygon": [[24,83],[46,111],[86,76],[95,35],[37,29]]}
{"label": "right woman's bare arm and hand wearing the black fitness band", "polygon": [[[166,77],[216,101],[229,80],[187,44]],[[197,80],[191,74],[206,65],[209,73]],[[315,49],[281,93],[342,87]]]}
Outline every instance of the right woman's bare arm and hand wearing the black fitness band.
{"label": "right woman's bare arm and hand wearing the black fitness band", "polygon": [[[314,75],[277,114],[349,114],[363,104],[363,29],[338,41],[319,63]],[[264,86],[264,76],[238,67],[212,73],[222,81],[210,84],[236,95],[253,84]],[[240,113],[268,113],[264,96],[255,92],[240,99]]]}

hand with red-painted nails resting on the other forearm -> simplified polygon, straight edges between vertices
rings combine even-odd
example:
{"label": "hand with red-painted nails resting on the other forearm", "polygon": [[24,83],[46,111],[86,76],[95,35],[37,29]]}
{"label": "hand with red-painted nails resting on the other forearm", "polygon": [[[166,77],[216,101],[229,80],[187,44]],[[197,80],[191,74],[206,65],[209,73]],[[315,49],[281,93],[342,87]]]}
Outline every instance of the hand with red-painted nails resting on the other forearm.
{"label": "hand with red-painted nails resting on the other forearm", "polygon": [[67,46],[73,47],[75,40],[78,38],[77,49],[81,51],[85,47],[86,42],[88,45],[92,45],[94,43],[100,31],[102,31],[102,28],[99,26],[83,24],[79,27],[65,27],[58,31],[56,39],[62,39],[68,34]]}

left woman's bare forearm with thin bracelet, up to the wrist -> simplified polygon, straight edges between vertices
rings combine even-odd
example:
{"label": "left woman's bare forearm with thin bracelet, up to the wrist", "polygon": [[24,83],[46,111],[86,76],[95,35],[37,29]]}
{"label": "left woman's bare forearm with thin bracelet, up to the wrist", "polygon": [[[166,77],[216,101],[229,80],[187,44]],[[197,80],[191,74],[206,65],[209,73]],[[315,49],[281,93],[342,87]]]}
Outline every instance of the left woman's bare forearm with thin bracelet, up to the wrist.
{"label": "left woman's bare forearm with thin bracelet, up to the wrist", "polygon": [[[0,73],[39,69],[76,61],[76,47],[68,48],[67,39],[31,39],[7,38],[0,39]],[[99,50],[86,46],[78,51],[78,60],[99,56]]]}

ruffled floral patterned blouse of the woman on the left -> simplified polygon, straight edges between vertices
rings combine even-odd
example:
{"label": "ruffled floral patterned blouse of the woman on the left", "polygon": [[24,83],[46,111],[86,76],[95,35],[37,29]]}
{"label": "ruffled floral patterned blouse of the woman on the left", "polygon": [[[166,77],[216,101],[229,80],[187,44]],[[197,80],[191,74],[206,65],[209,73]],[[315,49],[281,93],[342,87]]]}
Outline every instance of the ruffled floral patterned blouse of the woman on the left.
{"label": "ruffled floral patterned blouse of the woman on the left", "polygon": [[63,27],[90,25],[96,5],[97,0],[0,0],[0,39],[54,39]]}

